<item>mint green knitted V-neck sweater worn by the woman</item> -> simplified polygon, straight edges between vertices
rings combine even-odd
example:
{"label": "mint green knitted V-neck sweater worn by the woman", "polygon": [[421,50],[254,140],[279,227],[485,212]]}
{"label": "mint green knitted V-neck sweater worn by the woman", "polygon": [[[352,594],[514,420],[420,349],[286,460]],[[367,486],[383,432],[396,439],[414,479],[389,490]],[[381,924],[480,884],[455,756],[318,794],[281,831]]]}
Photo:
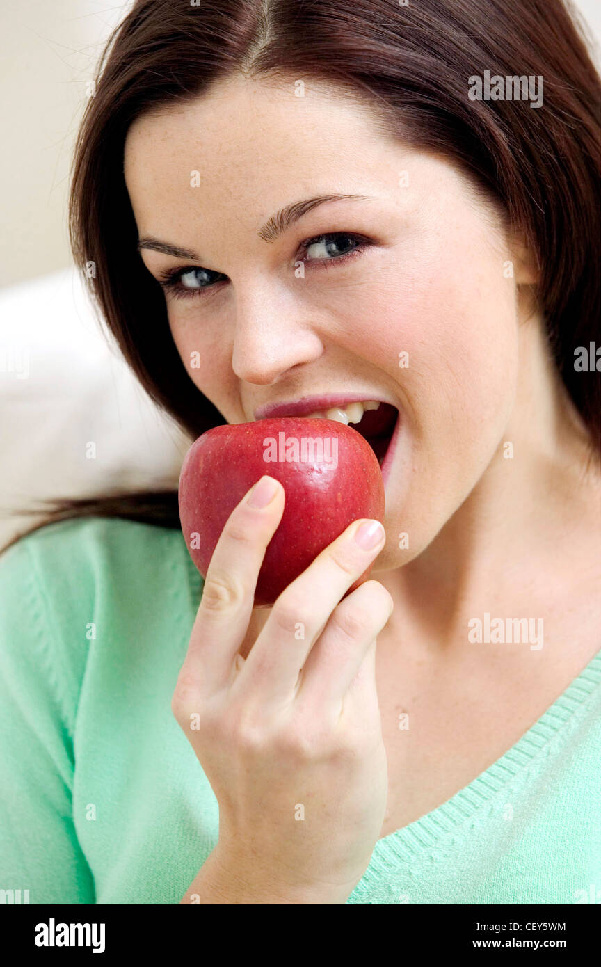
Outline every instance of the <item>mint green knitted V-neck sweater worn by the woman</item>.
{"label": "mint green knitted V-neck sweater worn by the woman", "polygon": [[[0,891],[180,902],[218,830],[171,712],[201,591],[181,533],[149,524],[56,523],[0,555]],[[601,652],[494,765],[380,839],[347,902],[601,903],[600,765]]]}

